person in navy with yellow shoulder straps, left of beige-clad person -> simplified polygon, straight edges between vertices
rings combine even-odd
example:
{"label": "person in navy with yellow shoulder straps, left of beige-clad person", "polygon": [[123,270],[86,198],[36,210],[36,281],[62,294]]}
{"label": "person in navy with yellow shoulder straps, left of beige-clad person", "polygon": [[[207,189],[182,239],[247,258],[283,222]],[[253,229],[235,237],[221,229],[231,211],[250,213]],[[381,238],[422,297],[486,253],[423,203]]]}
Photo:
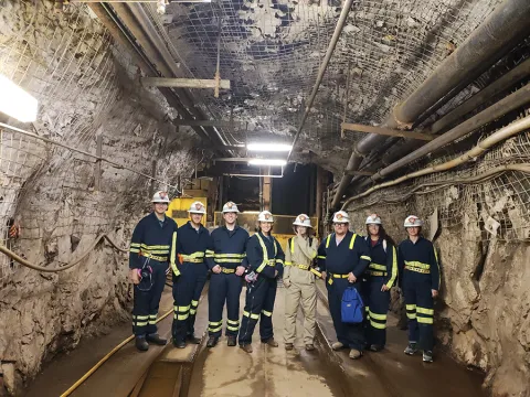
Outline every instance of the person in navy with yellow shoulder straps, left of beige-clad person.
{"label": "person in navy with yellow shoulder straps, left of beige-clad person", "polygon": [[[257,216],[258,232],[246,245],[248,260],[245,308],[241,320],[239,343],[246,353],[252,353],[252,334],[259,321],[262,343],[277,347],[273,332],[273,309],[276,299],[277,278],[282,277],[285,255],[279,243],[271,235],[274,217],[268,211]],[[254,276],[257,275],[257,278]]]}

